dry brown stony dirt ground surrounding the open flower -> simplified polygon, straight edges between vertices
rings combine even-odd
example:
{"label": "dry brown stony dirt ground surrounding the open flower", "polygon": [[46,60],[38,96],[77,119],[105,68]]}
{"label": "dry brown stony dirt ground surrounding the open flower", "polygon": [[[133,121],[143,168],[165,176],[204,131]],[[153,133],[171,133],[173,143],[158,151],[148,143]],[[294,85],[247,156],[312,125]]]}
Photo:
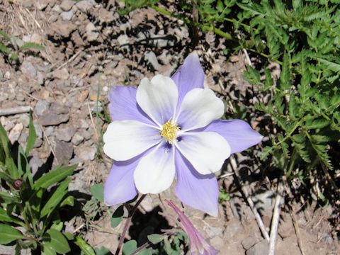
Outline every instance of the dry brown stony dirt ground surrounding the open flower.
{"label": "dry brown stony dirt ground surrounding the open flower", "polygon": [[[78,164],[69,188],[80,193],[89,194],[92,184],[103,183],[111,167],[111,160],[101,151],[101,134],[107,126],[103,109],[109,89],[117,84],[137,86],[142,77],[154,74],[171,75],[194,50],[189,30],[181,21],[149,8],[119,16],[119,6],[116,1],[94,0],[0,1],[0,29],[11,35],[17,45],[37,42],[45,46],[41,51],[18,52],[17,63],[8,62],[0,54],[0,111],[14,111],[1,115],[1,124],[11,142],[25,144],[28,113],[16,111],[20,106],[33,108],[38,134],[30,159],[33,171],[46,161],[53,165]],[[228,118],[239,111],[239,102],[249,106],[243,118],[252,120],[253,128],[259,130],[260,117],[251,113],[256,101],[254,89],[242,78],[244,53],[227,57],[222,53],[226,47],[225,40],[209,33],[200,35],[196,50],[205,69],[205,86],[227,102]],[[225,164],[219,180],[230,200],[220,204],[219,217],[185,208],[220,254],[267,253],[268,244],[245,197],[254,201],[268,230],[277,180],[259,177],[263,167],[259,163],[260,151],[261,145],[235,155],[237,175],[229,162]],[[171,190],[147,196],[130,228],[130,237],[142,242],[145,234],[174,225],[167,216],[171,212],[164,198],[178,202]],[[296,198],[291,203],[293,208],[283,206],[276,254],[302,254],[301,249],[304,254],[339,254],[336,226],[330,224],[332,208],[315,208],[302,202]],[[93,208],[86,210],[85,218],[68,222],[67,231],[83,233],[91,245],[115,251],[123,225],[113,229],[107,211],[91,217]],[[159,211],[165,213],[159,215]]]}

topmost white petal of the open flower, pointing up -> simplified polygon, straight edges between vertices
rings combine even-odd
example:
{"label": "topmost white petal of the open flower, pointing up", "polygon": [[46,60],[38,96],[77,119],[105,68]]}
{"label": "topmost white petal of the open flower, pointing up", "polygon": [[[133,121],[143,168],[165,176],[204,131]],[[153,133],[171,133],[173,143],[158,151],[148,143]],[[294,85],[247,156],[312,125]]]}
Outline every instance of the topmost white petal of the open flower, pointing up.
{"label": "topmost white petal of the open flower, pointing up", "polygon": [[137,103],[155,123],[163,123],[173,118],[176,111],[179,91],[170,77],[156,75],[149,81],[144,78],[137,89]]}

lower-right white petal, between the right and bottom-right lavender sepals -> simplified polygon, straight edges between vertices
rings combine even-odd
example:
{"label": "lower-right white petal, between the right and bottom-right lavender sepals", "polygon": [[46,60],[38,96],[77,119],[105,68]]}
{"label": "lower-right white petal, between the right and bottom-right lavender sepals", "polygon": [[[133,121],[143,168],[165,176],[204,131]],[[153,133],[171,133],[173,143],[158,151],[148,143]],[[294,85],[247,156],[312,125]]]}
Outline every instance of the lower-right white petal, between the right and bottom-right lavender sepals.
{"label": "lower-right white petal, between the right and bottom-right lavender sepals", "polygon": [[176,147],[200,174],[219,171],[230,156],[228,142],[215,132],[185,132]]}

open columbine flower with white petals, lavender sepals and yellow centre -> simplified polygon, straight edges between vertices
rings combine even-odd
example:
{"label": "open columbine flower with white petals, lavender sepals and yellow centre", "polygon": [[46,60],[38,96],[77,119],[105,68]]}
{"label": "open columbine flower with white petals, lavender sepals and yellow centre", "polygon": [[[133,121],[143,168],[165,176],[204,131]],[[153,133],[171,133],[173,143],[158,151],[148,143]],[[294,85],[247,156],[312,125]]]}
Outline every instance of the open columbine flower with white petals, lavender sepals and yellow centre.
{"label": "open columbine flower with white petals, lavender sepals and yellow centre", "polygon": [[203,89],[204,72],[195,53],[173,77],[144,78],[136,89],[118,86],[109,94],[113,123],[103,150],[115,160],[104,187],[108,205],[140,193],[160,193],[176,176],[176,196],[217,215],[215,171],[231,153],[261,141],[242,120],[218,120],[224,105]]}

